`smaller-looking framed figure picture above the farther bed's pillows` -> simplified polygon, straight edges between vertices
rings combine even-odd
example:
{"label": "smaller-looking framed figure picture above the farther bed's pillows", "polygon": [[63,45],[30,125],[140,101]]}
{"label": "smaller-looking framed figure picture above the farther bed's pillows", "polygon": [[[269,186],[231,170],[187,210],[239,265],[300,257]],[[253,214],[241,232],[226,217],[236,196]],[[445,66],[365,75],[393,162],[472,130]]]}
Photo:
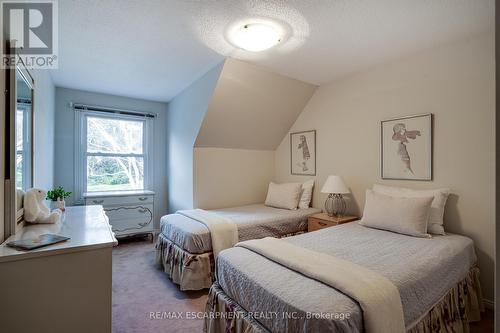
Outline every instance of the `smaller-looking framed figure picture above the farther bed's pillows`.
{"label": "smaller-looking framed figure picture above the farther bed's pillows", "polygon": [[316,130],[290,133],[290,173],[316,176]]}

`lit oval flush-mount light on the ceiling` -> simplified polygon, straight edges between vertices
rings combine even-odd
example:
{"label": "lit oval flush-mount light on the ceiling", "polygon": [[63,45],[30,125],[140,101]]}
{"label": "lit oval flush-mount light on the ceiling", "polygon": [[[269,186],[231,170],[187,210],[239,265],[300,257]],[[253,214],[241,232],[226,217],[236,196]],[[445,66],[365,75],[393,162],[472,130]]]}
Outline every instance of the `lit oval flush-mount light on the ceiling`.
{"label": "lit oval flush-mount light on the ceiling", "polygon": [[283,38],[283,29],[274,22],[256,21],[234,26],[228,33],[229,40],[235,46],[251,51],[267,50]]}

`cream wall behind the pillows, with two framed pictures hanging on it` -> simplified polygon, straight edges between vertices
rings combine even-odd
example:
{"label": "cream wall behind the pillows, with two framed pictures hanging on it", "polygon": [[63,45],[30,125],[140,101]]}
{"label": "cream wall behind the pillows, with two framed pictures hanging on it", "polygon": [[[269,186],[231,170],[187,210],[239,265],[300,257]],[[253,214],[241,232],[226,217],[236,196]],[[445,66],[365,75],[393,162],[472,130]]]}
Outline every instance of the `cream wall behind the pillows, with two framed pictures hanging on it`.
{"label": "cream wall behind the pillows, with two framed pictures hanging on it", "polygon": [[[317,130],[313,206],[322,207],[326,177],[342,175],[350,210],[360,214],[373,183],[450,187],[445,228],[476,244],[484,296],[493,300],[495,228],[494,34],[427,50],[321,86],[291,131]],[[380,120],[433,113],[434,180],[380,179]],[[278,181],[290,175],[289,136],[276,150]]]}

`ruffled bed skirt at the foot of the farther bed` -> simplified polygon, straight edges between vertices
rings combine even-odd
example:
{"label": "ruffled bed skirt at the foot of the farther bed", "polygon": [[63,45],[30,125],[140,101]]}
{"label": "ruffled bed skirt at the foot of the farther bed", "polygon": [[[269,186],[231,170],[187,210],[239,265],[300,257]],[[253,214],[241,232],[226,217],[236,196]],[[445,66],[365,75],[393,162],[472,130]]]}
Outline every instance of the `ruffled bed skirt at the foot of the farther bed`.
{"label": "ruffled bed skirt at the foot of the farther bed", "polygon": [[201,254],[186,252],[161,233],[156,241],[156,262],[181,290],[206,289],[213,283],[212,252]]}

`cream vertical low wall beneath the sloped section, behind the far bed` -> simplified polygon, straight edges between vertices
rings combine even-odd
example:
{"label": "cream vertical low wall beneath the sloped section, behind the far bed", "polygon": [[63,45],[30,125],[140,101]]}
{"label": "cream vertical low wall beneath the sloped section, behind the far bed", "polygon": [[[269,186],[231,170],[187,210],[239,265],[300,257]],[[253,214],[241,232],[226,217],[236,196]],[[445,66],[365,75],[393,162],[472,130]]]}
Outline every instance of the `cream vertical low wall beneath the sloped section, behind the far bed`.
{"label": "cream vertical low wall beneath the sloped section, behind the far bed", "polygon": [[273,179],[273,150],[194,149],[194,207],[263,203]]}

